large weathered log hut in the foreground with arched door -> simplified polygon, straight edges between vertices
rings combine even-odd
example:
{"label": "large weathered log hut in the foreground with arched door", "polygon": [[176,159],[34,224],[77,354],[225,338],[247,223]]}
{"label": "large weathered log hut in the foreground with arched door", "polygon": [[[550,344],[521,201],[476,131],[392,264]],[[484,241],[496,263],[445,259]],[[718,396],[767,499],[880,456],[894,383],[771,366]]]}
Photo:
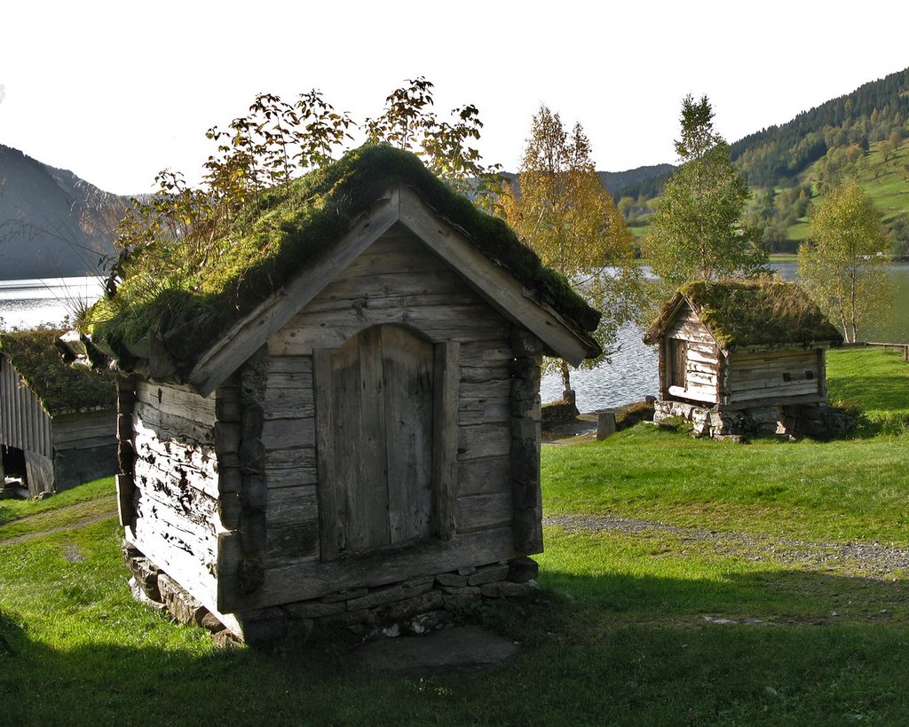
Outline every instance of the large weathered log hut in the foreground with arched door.
{"label": "large weathered log hut in the foreground with arched door", "polygon": [[123,374],[134,592],[247,642],[421,632],[527,593],[541,356],[599,353],[598,313],[413,154],[314,174],[267,223],[271,272],[231,281],[232,317],[95,328]]}

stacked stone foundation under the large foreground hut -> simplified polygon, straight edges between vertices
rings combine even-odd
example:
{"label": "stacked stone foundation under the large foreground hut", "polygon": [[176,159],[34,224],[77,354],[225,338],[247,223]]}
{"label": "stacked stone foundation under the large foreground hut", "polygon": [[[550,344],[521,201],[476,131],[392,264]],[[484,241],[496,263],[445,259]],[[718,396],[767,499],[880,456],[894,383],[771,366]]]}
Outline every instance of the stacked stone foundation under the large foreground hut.
{"label": "stacked stone foundation under the large foreground hut", "polygon": [[330,593],[310,601],[231,614],[239,628],[227,628],[173,578],[135,547],[124,544],[136,600],[166,611],[176,622],[208,629],[219,642],[275,647],[304,643],[314,634],[367,640],[422,634],[463,618],[486,599],[529,596],[537,591],[537,564],[531,558],[489,563],[389,583]]}

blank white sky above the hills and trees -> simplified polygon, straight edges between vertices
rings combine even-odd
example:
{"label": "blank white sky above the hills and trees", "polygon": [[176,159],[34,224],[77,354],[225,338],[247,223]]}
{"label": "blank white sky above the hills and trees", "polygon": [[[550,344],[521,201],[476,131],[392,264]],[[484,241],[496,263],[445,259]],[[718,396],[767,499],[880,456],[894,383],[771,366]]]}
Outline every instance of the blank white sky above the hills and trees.
{"label": "blank white sky above the hills and trees", "polygon": [[[580,121],[598,169],[674,162],[681,100],[710,97],[729,142],[909,66],[909,3],[74,3],[0,11],[0,144],[109,192],[196,182],[205,129],[254,95],[311,88],[357,119],[406,78],[480,109],[487,163],[515,171],[541,103]],[[843,5],[840,5],[843,8]]]}

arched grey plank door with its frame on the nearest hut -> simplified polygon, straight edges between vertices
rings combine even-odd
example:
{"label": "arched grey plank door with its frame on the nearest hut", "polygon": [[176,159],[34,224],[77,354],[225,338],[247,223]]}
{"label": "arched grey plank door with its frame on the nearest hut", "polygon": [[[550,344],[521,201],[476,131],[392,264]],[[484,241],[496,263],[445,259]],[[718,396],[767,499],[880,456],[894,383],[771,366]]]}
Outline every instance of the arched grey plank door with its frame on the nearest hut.
{"label": "arched grey plank door with its frame on the nearest hut", "polygon": [[314,353],[323,559],[438,533],[439,358],[396,325]]}

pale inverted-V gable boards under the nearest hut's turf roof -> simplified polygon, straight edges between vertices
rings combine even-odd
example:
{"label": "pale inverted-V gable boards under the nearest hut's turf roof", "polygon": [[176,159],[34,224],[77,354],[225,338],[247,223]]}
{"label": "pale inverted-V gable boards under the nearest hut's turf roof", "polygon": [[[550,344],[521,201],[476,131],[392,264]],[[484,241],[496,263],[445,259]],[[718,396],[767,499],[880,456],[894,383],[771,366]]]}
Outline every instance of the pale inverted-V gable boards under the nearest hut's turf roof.
{"label": "pale inverted-V gable boards under the nearest hut's turf roof", "polygon": [[415,191],[397,186],[318,261],[272,294],[235,324],[202,356],[188,381],[203,396],[214,392],[268,338],[303,310],[337,274],[400,222],[460,274],[496,310],[538,336],[571,364],[588,353],[584,336],[575,334],[558,314],[526,294],[513,275],[496,267],[450,224],[428,208]]}

